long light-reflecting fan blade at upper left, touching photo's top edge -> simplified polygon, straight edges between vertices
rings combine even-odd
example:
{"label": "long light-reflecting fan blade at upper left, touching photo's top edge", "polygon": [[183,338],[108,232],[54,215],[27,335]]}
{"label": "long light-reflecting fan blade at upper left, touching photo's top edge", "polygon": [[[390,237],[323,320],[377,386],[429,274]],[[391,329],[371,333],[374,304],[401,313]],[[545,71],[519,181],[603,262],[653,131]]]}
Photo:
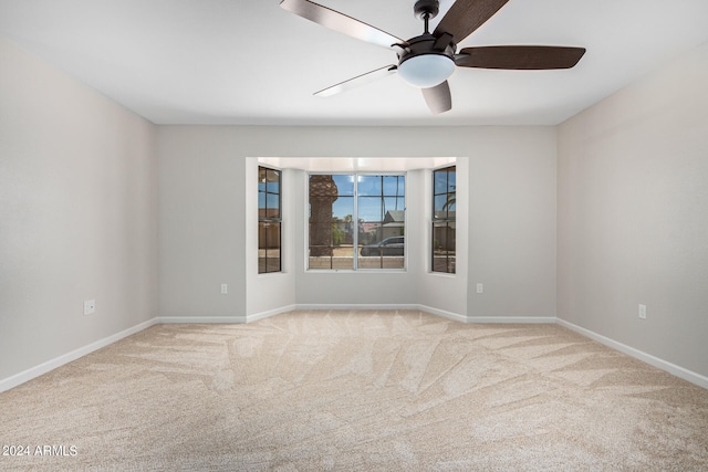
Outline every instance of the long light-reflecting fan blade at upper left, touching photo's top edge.
{"label": "long light-reflecting fan blade at upper left, touching photo's top edge", "polygon": [[325,28],[379,46],[391,48],[404,42],[378,28],[309,0],[282,0],[280,7]]}

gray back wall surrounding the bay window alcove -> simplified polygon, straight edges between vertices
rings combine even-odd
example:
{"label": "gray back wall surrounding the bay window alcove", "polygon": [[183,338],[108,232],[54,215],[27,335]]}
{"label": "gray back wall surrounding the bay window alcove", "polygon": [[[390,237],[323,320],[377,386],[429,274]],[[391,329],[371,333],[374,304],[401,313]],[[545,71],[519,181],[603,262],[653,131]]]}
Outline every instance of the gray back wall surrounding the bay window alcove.
{"label": "gray back wall surrounding the bay window alcove", "polygon": [[[472,317],[555,315],[553,127],[162,126],[158,141],[162,316],[244,317],[293,303],[421,303]],[[419,265],[407,274],[305,273],[300,239],[289,274],[259,277],[248,269],[257,220],[246,217],[251,207],[256,214],[254,200],[244,203],[256,180],[256,164],[247,158],[272,156],[466,158],[469,235],[458,241],[467,271],[444,282],[418,276],[419,261],[410,261]],[[292,211],[295,241],[304,234],[303,191]],[[414,224],[424,231],[425,221]],[[485,283],[481,295],[477,282]],[[232,287],[226,296],[221,283]]]}

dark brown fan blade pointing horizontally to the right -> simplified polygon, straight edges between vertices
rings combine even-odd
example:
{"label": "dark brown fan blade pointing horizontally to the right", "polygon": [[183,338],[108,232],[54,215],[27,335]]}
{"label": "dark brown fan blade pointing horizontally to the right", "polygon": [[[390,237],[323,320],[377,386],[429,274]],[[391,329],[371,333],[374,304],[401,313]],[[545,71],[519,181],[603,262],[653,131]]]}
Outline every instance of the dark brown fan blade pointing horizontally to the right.
{"label": "dark brown fan blade pointing horizontally to the right", "polygon": [[460,67],[546,70],[571,69],[585,54],[584,48],[564,46],[481,46],[465,48],[455,56]]}

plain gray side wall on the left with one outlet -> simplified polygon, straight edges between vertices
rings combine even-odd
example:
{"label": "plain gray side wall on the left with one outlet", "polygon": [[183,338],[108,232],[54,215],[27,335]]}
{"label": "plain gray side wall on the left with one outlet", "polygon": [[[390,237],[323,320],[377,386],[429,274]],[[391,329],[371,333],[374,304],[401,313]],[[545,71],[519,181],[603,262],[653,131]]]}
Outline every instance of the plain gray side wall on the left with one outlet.
{"label": "plain gray side wall on the left with one outlet", "polygon": [[2,380],[155,317],[157,159],[150,123],[1,40],[0,64]]}

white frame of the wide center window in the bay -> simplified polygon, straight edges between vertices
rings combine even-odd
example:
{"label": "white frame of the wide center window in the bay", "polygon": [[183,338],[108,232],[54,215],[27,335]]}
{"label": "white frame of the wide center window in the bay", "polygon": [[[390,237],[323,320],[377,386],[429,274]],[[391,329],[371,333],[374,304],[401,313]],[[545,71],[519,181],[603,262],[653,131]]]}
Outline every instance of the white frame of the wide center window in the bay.
{"label": "white frame of the wide center window in the bay", "polygon": [[[343,197],[347,197],[347,198],[352,198],[353,200],[353,208],[352,208],[352,220],[356,221],[356,228],[354,229],[354,231],[352,232],[352,245],[353,245],[353,251],[352,251],[352,266],[351,268],[333,268],[333,261],[331,260],[330,262],[330,268],[311,268],[311,225],[312,225],[312,221],[311,221],[311,211],[312,209],[310,208],[311,203],[310,203],[310,182],[311,182],[311,177],[312,176],[347,176],[352,178],[353,181],[353,192],[352,195],[348,193],[343,193],[341,196]],[[403,195],[403,211],[404,211],[404,221],[403,221],[403,227],[402,227],[402,234],[395,234],[395,235],[391,235],[391,237],[404,237],[404,249],[403,249],[403,265],[400,268],[362,268],[361,266],[361,261],[360,259],[363,258],[363,255],[361,255],[361,249],[362,245],[360,245],[360,225],[358,225],[358,214],[360,214],[360,198],[361,197],[372,197],[372,196],[362,196],[360,195],[360,182],[361,182],[361,177],[371,177],[371,176],[376,176],[376,177],[403,177],[403,182],[404,182],[404,195]],[[406,171],[308,171],[305,174],[305,200],[306,200],[306,206],[308,206],[308,211],[305,211],[305,258],[304,258],[304,264],[305,264],[305,271],[308,272],[312,272],[312,273],[330,273],[330,272],[348,272],[348,273],[353,273],[353,272],[376,272],[376,273],[382,273],[382,272],[407,272],[407,268],[408,268],[408,243],[407,243],[407,239],[405,238],[405,233],[406,233],[406,229],[407,229],[407,191],[406,191],[406,181],[408,180],[408,175]],[[337,191],[337,196],[340,196],[339,191]],[[382,193],[381,193],[381,198],[384,199],[386,197],[392,197],[392,196],[387,196],[386,193],[384,193],[384,189],[382,186]],[[395,197],[395,198],[400,198],[400,197]],[[379,223],[383,225],[384,219],[385,219],[386,214],[383,214],[381,218],[382,220],[379,221]],[[379,241],[377,242],[382,242],[387,238],[391,237],[383,237],[381,238]],[[332,248],[334,248],[334,245],[332,245]],[[381,253],[379,256],[382,258],[382,262],[381,264],[383,265],[383,258],[385,254]],[[334,255],[330,256],[331,259],[334,258]]]}

